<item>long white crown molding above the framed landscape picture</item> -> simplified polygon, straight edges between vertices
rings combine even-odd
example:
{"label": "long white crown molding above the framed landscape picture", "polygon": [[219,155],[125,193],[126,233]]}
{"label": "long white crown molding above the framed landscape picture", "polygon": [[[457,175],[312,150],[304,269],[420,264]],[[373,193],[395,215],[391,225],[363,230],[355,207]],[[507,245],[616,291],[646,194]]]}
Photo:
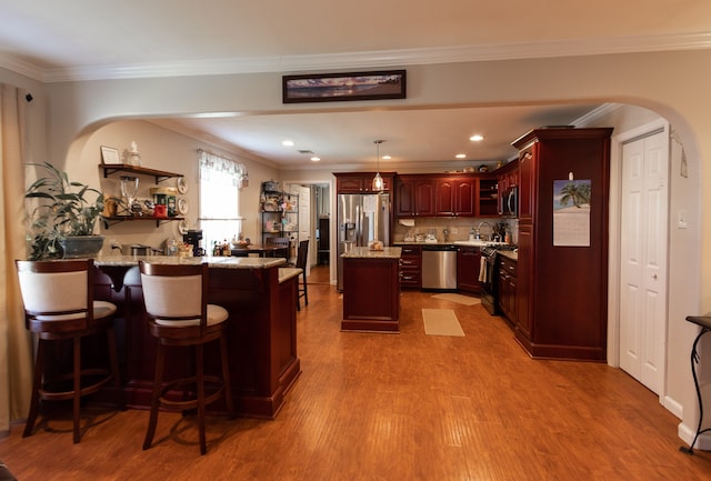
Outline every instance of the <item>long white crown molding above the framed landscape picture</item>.
{"label": "long white crown molding above the framed landscape picture", "polygon": [[236,73],[298,72],[309,70],[365,69],[409,64],[458,63],[492,60],[580,57],[711,48],[711,33],[601,38],[532,43],[498,43],[381,50],[333,54],[211,59],[40,69],[0,54],[0,67],[43,82],[218,76]]}

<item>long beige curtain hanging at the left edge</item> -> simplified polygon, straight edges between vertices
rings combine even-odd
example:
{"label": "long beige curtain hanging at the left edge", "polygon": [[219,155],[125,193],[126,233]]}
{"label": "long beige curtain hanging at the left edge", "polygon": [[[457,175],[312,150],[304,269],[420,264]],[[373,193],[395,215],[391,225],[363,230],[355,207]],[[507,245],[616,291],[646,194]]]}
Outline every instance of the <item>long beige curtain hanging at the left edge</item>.
{"label": "long beige curtain hanging at the left edge", "polygon": [[32,381],[32,343],[24,329],[16,259],[24,247],[24,122],[27,92],[0,83],[0,437],[26,417]]}

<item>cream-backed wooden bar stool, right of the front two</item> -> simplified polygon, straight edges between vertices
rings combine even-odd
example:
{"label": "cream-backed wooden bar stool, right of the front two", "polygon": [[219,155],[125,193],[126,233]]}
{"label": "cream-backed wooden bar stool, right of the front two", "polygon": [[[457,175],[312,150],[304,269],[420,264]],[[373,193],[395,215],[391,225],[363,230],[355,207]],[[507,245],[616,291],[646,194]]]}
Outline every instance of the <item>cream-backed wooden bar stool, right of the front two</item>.
{"label": "cream-backed wooden bar stool, right of the front two", "polygon": [[[143,302],[150,333],[158,339],[151,413],[143,449],[153,442],[158,411],[198,411],[200,454],[207,452],[204,408],[224,395],[227,412],[233,417],[230,369],[227,354],[228,311],[208,304],[208,264],[159,264],[139,262]],[[204,374],[204,344],[219,340],[222,377]],[[194,354],[194,374],[163,384],[166,348],[189,347]],[[192,388],[192,389],[190,389]],[[210,393],[206,393],[210,389]],[[171,391],[181,390],[178,399]]]}

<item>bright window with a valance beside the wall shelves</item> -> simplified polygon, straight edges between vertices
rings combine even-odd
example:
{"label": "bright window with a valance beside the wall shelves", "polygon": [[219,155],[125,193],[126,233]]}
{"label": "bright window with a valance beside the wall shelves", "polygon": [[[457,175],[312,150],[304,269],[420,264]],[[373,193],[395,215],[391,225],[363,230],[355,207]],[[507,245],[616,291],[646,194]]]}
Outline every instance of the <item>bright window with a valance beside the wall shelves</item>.
{"label": "bright window with a valance beside the wall shelves", "polygon": [[248,182],[244,164],[198,150],[202,245],[212,253],[216,242],[230,241],[242,231],[240,188]]}

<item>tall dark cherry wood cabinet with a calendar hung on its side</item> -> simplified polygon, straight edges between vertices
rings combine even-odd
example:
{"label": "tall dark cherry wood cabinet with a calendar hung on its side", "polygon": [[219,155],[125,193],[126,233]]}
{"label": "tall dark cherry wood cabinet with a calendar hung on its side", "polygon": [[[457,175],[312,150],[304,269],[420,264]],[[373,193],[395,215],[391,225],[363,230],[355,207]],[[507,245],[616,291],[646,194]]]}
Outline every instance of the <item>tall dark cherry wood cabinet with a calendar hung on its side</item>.
{"label": "tall dark cherry wood cabinet with a calendar hung on its side", "polygon": [[[513,142],[520,152],[515,335],[534,358],[607,359],[611,132],[538,129]],[[564,211],[554,211],[554,182],[571,178],[590,186],[580,211],[589,242],[574,245],[553,236],[567,226]]]}

